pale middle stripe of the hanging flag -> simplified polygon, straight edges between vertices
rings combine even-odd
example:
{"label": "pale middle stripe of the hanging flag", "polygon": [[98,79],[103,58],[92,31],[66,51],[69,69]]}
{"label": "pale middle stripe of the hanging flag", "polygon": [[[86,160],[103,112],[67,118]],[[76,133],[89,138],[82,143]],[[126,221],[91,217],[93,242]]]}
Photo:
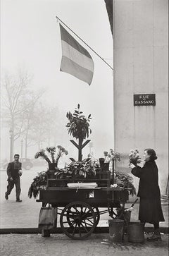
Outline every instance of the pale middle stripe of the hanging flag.
{"label": "pale middle stripe of the hanging flag", "polygon": [[86,55],[81,54],[79,51],[77,51],[77,49],[73,48],[65,41],[62,41],[62,54],[78,65],[82,66],[82,68],[87,68],[89,71],[93,72],[94,63],[92,59],[88,58]]}

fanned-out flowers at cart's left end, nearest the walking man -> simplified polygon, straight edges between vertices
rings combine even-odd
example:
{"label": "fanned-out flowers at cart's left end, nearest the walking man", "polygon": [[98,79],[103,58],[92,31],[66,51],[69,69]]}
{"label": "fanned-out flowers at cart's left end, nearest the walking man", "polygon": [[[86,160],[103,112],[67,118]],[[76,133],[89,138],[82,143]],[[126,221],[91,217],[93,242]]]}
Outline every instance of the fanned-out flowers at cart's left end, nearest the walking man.
{"label": "fanned-out flowers at cart's left end, nearest the walking man", "polygon": [[60,157],[63,156],[63,154],[68,154],[68,151],[65,150],[64,147],[58,145],[57,146],[58,148],[58,152],[57,152],[57,155],[56,155],[56,159],[55,159],[55,152],[56,152],[56,147],[46,147],[46,152],[48,152],[51,156],[51,160],[49,159],[48,155],[46,154],[45,150],[40,150],[39,152],[37,152],[35,154],[35,158],[39,158],[39,157],[42,157],[43,159],[45,159],[49,164],[51,163],[56,163],[56,166],[58,164],[58,159]]}

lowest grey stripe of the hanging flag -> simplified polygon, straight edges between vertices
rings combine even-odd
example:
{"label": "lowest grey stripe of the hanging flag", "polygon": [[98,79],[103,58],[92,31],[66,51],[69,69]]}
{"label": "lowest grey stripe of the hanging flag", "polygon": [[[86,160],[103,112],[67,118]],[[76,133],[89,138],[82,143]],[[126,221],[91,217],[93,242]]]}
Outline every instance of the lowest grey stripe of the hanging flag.
{"label": "lowest grey stripe of the hanging flag", "polygon": [[92,83],[93,72],[89,71],[87,68],[82,68],[82,66],[68,59],[66,56],[62,56],[60,71],[74,75],[76,78],[88,83]]}

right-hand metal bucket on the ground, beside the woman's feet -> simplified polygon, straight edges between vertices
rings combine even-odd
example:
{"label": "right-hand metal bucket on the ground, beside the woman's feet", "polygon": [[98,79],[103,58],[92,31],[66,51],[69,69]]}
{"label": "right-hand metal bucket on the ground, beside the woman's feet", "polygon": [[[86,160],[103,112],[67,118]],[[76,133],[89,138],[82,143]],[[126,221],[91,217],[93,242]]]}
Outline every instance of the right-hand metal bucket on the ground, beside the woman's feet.
{"label": "right-hand metal bucket on the ground, beside the woman's feet", "polygon": [[144,242],[144,224],[130,222],[127,226],[127,237],[129,242]]}

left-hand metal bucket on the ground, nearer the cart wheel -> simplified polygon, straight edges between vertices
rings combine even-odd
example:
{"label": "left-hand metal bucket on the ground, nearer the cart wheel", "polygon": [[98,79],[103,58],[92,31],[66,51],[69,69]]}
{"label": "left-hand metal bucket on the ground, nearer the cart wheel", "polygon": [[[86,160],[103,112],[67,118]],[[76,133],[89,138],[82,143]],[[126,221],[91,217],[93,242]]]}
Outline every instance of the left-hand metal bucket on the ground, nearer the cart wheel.
{"label": "left-hand metal bucket on the ground, nearer the cart wheel", "polygon": [[111,242],[122,242],[124,221],[122,219],[108,219],[108,226]]}

